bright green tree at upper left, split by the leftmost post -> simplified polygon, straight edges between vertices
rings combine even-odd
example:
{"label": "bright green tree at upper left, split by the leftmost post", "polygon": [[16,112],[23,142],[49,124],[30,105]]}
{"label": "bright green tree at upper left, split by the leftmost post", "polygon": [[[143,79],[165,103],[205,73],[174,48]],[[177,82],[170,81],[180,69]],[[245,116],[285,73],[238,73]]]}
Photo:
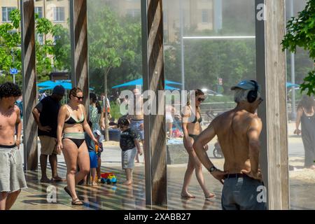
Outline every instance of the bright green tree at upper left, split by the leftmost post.
{"label": "bright green tree at upper left, split by the leftmost post", "polygon": [[[22,75],[20,73],[22,70],[20,20],[20,10],[15,9],[10,13],[11,22],[0,25],[0,71],[2,74],[0,83],[12,81],[13,78],[9,71],[10,68],[16,68],[19,71],[16,75],[16,83],[22,85]],[[59,35],[59,27],[57,25],[53,26],[52,22],[46,18],[38,18],[37,14],[35,15],[35,26],[36,75],[38,80],[48,80],[54,59],[58,67],[66,64],[65,62],[62,64],[62,59],[59,59],[63,58],[63,55],[55,50],[53,41],[50,38],[44,38],[45,36]],[[41,37],[42,41],[38,37]]]}

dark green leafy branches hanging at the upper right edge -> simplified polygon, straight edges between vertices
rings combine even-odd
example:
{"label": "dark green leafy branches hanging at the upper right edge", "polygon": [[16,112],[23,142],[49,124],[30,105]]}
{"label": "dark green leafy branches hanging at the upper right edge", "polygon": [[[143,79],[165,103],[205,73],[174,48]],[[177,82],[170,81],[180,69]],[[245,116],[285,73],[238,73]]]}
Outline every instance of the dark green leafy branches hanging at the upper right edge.
{"label": "dark green leafy branches hanging at the upper right edge", "polygon": [[[297,47],[309,52],[309,57],[315,62],[315,0],[309,0],[307,6],[297,17],[291,18],[287,25],[288,33],[282,41],[283,50],[296,52]],[[301,92],[315,94],[315,70],[309,71],[300,85]]]}

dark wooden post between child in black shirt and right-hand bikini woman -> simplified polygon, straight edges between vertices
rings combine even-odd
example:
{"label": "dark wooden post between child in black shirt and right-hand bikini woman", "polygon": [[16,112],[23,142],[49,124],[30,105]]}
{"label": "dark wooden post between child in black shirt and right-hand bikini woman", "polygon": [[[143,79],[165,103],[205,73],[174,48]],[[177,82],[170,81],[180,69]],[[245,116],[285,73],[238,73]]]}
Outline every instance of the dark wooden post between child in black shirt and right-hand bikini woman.
{"label": "dark wooden post between child in black shirt and right-hand bikini woman", "polygon": [[[162,0],[141,0],[141,17],[144,91],[158,96],[165,86]],[[144,131],[146,204],[167,204],[165,114],[145,115]]]}

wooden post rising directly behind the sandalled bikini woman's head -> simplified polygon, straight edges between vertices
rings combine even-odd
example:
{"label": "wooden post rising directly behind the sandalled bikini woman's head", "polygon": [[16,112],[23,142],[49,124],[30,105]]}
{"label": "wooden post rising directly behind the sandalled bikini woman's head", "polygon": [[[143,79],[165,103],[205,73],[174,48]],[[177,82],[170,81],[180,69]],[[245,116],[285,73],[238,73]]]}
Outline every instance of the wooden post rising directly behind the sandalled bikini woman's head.
{"label": "wooden post rising directly behind the sandalled bikini woman's head", "polygon": [[89,108],[89,75],[87,55],[87,3],[70,0],[71,80],[83,90],[83,105]]}

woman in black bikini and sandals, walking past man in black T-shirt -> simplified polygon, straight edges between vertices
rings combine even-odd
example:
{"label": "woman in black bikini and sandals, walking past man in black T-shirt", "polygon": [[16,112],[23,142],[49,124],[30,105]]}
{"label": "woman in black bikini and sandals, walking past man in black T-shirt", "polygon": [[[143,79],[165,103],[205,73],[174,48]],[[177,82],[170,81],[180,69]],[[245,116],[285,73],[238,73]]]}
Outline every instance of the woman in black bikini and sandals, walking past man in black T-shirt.
{"label": "woman in black bikini and sandals, walking past man in black T-shirt", "polygon": [[[96,144],[98,141],[87,124],[85,107],[81,104],[82,90],[74,87],[70,90],[69,98],[69,103],[64,104],[58,114],[57,150],[62,150],[66,161],[67,186],[64,190],[72,197],[71,204],[83,205],[76,195],[76,185],[90,172],[90,157],[84,141],[84,131]],[[77,165],[80,167],[78,173]]]}

